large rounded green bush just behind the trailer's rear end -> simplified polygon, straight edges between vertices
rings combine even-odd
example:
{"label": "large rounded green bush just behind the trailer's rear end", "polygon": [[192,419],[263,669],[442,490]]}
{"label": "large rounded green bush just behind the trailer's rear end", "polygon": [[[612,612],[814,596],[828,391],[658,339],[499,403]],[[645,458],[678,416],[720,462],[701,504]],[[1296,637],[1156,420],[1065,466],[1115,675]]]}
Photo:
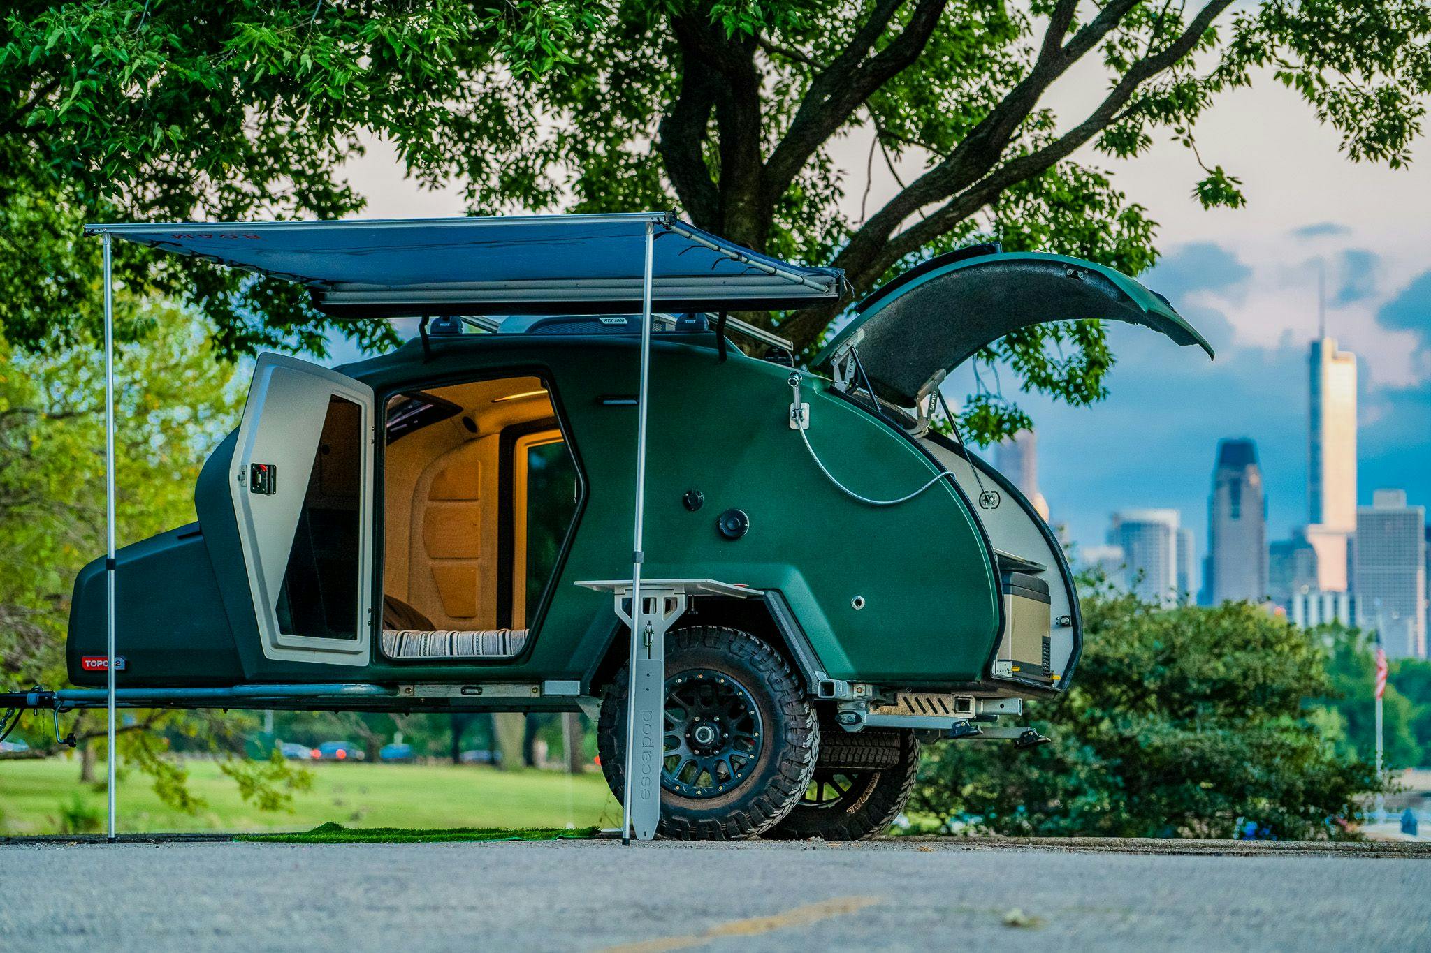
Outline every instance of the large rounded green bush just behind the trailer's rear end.
{"label": "large rounded green bush just behind the trailer's rear end", "polygon": [[1073,687],[1029,704],[1053,739],[1027,752],[946,742],[910,803],[946,830],[1027,836],[1348,837],[1378,787],[1309,699],[1332,693],[1327,649],[1259,607],[1155,609],[1083,599]]}

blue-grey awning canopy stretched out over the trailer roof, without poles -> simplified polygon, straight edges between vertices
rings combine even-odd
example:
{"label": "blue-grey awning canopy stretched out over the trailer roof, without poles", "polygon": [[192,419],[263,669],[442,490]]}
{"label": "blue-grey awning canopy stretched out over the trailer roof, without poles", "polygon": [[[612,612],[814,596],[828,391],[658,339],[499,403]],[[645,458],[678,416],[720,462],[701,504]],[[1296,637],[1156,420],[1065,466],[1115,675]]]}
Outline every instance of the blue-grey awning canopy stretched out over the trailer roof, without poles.
{"label": "blue-grey awning canopy stretched out over the trailer roof, without poles", "polygon": [[87,224],[137,244],[308,286],[338,317],[773,310],[839,300],[841,273],[758,254],[673,213]]}

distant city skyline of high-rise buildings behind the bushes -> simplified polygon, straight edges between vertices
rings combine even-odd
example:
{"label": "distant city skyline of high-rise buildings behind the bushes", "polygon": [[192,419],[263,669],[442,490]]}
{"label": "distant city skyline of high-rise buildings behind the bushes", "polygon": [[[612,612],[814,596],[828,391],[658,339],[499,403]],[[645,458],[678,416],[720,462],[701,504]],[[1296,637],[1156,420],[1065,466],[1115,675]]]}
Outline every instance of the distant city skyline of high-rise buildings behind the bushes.
{"label": "distant city skyline of high-rise buildings behind the bushes", "polygon": [[[1198,602],[1261,603],[1304,627],[1359,626],[1378,634],[1388,656],[1424,659],[1431,630],[1427,509],[1387,487],[1372,490],[1371,506],[1357,504],[1357,357],[1321,324],[1319,331],[1307,363],[1309,520],[1289,539],[1268,540],[1256,443],[1219,439]],[[1036,466],[1032,456],[1030,443],[1020,467]],[[1082,562],[1115,586],[1169,606],[1192,592],[1193,549],[1179,510],[1118,510],[1106,544],[1088,547]]]}

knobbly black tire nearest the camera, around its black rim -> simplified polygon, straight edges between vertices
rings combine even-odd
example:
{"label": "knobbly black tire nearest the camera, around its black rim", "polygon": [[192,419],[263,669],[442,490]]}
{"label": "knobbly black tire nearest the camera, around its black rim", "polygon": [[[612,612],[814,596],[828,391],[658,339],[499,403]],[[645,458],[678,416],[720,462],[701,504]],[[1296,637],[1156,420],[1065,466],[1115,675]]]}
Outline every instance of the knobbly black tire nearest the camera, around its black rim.
{"label": "knobbly black tire nearest the camera, around its black rim", "polygon": [[[657,833],[674,840],[756,837],[784,817],[810,786],[820,743],[814,707],[786,660],[737,629],[695,626],[667,633],[667,679],[694,669],[726,673],[750,693],[764,740],[750,773],[727,794],[694,799],[663,787]],[[628,682],[622,667],[607,684],[597,724],[601,772],[617,800],[625,784]]]}

